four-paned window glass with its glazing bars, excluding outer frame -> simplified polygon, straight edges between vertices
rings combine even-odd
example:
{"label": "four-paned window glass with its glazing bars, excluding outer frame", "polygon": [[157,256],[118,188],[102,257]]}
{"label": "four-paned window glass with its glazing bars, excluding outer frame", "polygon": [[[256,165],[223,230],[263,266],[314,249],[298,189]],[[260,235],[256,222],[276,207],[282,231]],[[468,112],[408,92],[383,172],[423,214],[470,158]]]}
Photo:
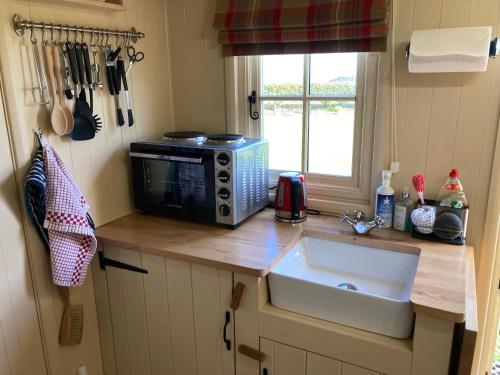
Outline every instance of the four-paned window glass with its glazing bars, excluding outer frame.
{"label": "four-paned window glass with its glazing bars, excluding outer frame", "polygon": [[270,168],[352,177],[357,54],[260,59]]}

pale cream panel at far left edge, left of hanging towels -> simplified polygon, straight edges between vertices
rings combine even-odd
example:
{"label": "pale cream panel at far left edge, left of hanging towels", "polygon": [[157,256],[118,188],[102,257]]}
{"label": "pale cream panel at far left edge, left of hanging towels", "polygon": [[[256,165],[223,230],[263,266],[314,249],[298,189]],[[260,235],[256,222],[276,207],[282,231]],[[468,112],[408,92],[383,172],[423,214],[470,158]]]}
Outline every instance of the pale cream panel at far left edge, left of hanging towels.
{"label": "pale cream panel at far left edge, left of hanging towels", "polygon": [[0,80],[0,374],[46,375]]}

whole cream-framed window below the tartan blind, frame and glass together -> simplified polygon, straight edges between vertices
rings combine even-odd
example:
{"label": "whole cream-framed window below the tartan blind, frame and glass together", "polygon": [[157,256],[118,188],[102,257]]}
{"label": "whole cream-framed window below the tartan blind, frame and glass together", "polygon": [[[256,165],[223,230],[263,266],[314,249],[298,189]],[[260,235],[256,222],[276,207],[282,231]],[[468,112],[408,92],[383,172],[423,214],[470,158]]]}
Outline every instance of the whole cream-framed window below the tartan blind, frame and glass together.
{"label": "whole cream-framed window below the tartan blind, frame and glass together", "polygon": [[[283,171],[302,171],[311,208],[370,210],[379,58],[334,53],[226,59],[228,131],[269,140],[270,186]],[[256,121],[248,113],[252,90]]]}

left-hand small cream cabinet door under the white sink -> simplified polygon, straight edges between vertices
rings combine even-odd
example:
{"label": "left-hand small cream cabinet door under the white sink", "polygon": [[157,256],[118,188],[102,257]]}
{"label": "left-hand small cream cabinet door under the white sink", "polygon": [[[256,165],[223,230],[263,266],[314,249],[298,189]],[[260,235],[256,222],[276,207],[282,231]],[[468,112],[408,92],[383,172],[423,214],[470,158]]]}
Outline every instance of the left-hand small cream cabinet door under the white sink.
{"label": "left-hand small cream cabinet door under the white sink", "polygon": [[[266,375],[306,375],[306,352],[264,338],[260,350],[265,353],[261,373]],[[267,370],[267,371],[266,371]]]}

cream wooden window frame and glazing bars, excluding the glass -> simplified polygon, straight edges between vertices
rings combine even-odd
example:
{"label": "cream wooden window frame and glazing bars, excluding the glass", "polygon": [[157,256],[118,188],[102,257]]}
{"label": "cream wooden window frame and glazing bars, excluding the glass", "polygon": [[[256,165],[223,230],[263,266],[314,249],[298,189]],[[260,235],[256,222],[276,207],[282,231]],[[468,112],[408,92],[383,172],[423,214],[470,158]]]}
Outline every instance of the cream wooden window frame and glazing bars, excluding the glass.
{"label": "cream wooden window frame and glazing bars, excluding the glass", "polygon": [[[358,54],[352,176],[306,173],[310,208],[331,213],[345,209],[371,210],[379,59],[379,53]],[[252,90],[256,90],[257,102],[252,110],[255,108],[258,108],[259,112],[262,110],[260,60],[260,56],[227,57],[225,60],[227,130],[231,133],[243,134],[246,137],[260,137],[262,134],[261,116],[258,120],[252,120],[249,116],[248,103],[248,95]],[[280,97],[281,99],[283,98]],[[290,96],[286,100],[294,99],[303,100],[302,96]],[[303,131],[305,129],[303,126]],[[303,144],[304,142],[306,139],[303,134]],[[276,184],[281,172],[269,171],[270,186]]]}

